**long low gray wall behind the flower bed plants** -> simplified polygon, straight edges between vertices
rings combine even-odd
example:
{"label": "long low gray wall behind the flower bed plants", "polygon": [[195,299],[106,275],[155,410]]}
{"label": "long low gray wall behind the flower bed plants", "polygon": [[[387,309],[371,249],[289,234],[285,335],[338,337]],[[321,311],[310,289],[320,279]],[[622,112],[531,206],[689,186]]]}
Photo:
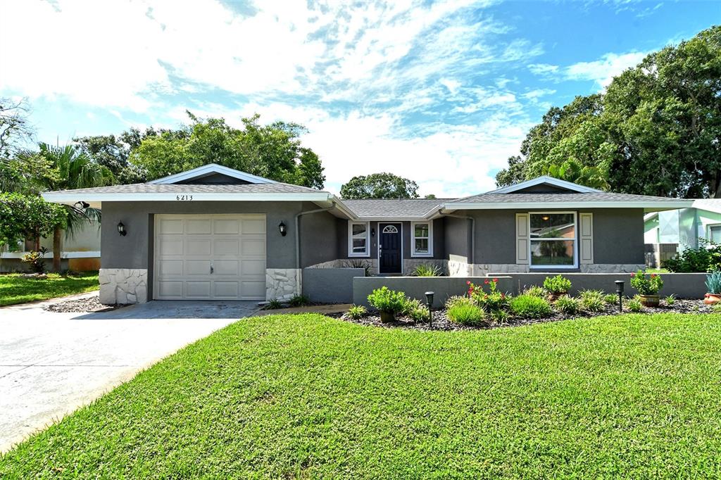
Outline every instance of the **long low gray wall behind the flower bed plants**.
{"label": "long low gray wall behind the flower bed plants", "polygon": [[[496,278],[498,290],[518,295],[531,285],[543,285],[546,277],[556,273],[507,273],[489,275],[488,277],[363,277],[353,279],[353,303],[368,306],[368,295],[376,288],[386,286],[391,290],[401,290],[410,298],[417,298],[425,303],[425,292],[433,291],[433,306],[440,307],[448,297],[464,295],[468,291],[468,281],[476,285],[485,280]],[[571,280],[572,295],[580,290],[603,290],[615,293],[616,280],[624,280],[624,293],[628,296],[638,292],[631,286],[629,273],[567,273],[562,274]],[[678,298],[704,298],[706,293],[705,273],[663,273],[663,289],[659,295],[671,295]]]}

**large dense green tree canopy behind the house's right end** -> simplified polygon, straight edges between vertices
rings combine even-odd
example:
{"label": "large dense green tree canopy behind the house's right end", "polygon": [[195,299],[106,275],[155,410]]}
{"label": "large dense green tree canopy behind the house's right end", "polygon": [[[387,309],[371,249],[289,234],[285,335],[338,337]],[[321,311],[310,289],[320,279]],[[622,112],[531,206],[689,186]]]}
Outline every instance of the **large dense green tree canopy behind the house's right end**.
{"label": "large dense green tree canopy behind the house's right end", "polygon": [[542,174],[616,192],[721,197],[721,27],[651,53],[603,94],[552,107],[499,186]]}

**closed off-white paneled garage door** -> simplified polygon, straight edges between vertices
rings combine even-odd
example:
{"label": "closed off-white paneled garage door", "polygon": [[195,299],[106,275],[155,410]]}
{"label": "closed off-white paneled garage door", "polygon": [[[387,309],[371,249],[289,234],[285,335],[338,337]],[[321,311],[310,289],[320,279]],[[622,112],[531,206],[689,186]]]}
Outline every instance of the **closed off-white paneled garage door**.
{"label": "closed off-white paneled garage door", "polygon": [[154,298],[265,300],[265,215],[155,215]]}

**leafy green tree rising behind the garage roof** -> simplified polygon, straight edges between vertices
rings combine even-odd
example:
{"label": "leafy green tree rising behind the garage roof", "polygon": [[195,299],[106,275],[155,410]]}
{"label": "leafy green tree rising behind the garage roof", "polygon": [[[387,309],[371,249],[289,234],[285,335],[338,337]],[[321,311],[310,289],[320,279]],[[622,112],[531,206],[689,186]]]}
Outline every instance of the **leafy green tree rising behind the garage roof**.
{"label": "leafy green tree rising behind the garage roof", "polygon": [[260,115],[243,118],[234,128],[223,118],[201,119],[190,112],[190,125],[146,136],[134,148],[130,161],[142,167],[148,179],[221,164],[279,182],[322,188],[323,166],[317,154],[301,146],[306,131],[296,123],[260,125]]}

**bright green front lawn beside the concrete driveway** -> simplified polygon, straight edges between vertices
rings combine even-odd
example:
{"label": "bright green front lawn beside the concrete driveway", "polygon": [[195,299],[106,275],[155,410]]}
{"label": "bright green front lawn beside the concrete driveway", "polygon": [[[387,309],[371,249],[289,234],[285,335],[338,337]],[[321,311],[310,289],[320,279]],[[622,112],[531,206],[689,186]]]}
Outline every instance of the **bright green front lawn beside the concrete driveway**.
{"label": "bright green front lawn beside the concrete driveway", "polygon": [[20,444],[0,477],[715,477],[719,352],[718,315],[242,319]]}

